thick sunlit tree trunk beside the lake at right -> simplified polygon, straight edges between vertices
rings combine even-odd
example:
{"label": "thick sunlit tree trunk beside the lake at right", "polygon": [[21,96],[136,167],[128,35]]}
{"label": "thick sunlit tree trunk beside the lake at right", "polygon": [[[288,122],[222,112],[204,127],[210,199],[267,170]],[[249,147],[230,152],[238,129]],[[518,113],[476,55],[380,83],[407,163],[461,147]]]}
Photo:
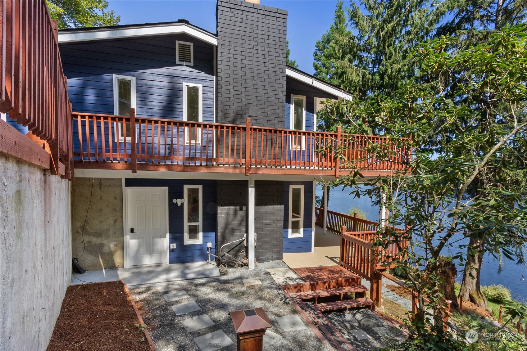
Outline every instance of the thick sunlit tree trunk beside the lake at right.
{"label": "thick sunlit tree trunk beside the lake at right", "polygon": [[[459,297],[463,301],[470,301],[474,305],[486,310],[488,308],[487,299],[480,290],[480,272],[483,265],[483,240],[470,239],[470,248],[475,248],[480,253],[477,253],[473,257],[469,256],[466,260]],[[473,278],[471,277],[471,273]]]}

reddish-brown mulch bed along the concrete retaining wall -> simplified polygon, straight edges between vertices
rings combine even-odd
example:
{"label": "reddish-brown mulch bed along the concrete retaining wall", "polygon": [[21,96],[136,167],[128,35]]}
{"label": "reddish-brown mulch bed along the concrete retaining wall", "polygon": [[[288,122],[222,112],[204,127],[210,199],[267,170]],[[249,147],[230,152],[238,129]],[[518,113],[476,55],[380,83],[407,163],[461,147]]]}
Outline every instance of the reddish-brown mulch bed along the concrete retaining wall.
{"label": "reddish-brown mulch bed along the concrete retaining wall", "polygon": [[67,288],[47,351],[151,351],[127,291],[122,281]]}

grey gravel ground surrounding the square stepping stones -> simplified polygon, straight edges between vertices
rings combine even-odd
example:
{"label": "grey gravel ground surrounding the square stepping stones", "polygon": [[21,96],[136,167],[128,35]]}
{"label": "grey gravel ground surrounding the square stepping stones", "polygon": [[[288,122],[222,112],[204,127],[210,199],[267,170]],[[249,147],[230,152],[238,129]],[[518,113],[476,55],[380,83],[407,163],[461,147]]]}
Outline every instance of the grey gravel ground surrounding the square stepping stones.
{"label": "grey gravel ground surrounding the square stepping stones", "polygon": [[[157,287],[141,287],[130,291],[158,351],[199,351],[193,338],[220,329],[234,342],[221,350],[236,350],[236,334],[229,312],[255,307],[264,309],[273,325],[268,330],[280,336],[276,342],[265,348],[266,350],[327,350],[309,327],[303,330],[284,331],[278,325],[276,317],[297,314],[296,309],[266,271],[268,268],[282,267],[287,267],[283,261],[262,262],[251,271],[247,268],[230,268],[226,279],[222,280],[178,282],[190,297],[174,303],[167,303]],[[242,279],[253,277],[258,277],[262,284],[250,287],[242,285]],[[196,301],[201,310],[183,316],[174,314],[172,305],[191,300]],[[181,324],[184,319],[204,313],[214,321],[213,326],[189,333]]]}

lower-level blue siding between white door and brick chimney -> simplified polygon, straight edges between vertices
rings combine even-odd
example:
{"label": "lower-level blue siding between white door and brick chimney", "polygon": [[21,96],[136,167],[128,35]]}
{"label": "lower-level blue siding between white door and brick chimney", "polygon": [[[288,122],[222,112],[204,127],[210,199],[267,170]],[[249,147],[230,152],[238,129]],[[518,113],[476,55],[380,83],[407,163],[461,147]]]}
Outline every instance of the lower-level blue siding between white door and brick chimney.
{"label": "lower-level blue siding between white door and brick chimney", "polygon": [[[203,243],[183,244],[183,205],[172,199],[183,198],[183,185],[203,186]],[[212,253],[216,252],[216,180],[196,179],[125,179],[126,187],[168,187],[169,244],[176,248],[169,251],[169,263],[179,264],[206,261],[207,242],[212,242]]]}

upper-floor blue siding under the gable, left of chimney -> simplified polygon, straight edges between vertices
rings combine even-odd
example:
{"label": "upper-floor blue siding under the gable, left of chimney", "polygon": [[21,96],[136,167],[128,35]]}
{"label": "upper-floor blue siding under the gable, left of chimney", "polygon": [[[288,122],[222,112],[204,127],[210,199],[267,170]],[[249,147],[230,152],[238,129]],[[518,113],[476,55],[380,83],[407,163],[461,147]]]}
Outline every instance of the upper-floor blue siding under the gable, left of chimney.
{"label": "upper-floor blue siding under the gable, left of chimney", "polygon": [[[194,43],[194,65],[175,63],[175,41]],[[113,75],[135,77],[138,117],[183,119],[183,83],[203,86],[203,122],[214,122],[213,47],[186,35],[60,45],[73,111],[113,114]],[[101,144],[101,135],[97,138]],[[73,146],[79,152],[77,122]],[[109,136],[105,135],[106,145]],[[84,152],[87,145],[83,143]],[[107,146],[108,147],[108,146]],[[116,144],[113,144],[115,149]],[[94,152],[94,144],[91,145]]]}

